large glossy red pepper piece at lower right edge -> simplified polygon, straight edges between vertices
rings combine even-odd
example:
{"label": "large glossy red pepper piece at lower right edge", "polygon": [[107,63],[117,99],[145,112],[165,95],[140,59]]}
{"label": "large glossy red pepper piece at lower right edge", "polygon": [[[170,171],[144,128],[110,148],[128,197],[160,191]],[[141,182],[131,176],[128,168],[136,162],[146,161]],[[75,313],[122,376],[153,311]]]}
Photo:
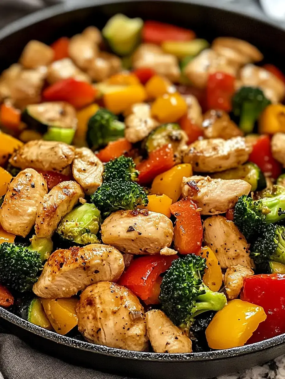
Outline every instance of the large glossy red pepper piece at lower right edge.
{"label": "large glossy red pepper piece at lower right edge", "polygon": [[285,274],[261,274],[244,279],[240,298],[260,305],[267,315],[247,343],[285,333]]}

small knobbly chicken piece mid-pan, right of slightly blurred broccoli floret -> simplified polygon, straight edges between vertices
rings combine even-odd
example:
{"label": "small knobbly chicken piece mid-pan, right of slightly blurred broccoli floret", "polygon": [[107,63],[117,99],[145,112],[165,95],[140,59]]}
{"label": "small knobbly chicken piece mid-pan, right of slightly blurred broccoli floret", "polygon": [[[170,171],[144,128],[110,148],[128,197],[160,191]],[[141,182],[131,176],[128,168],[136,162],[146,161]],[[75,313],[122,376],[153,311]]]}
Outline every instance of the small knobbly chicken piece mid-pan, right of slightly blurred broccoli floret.
{"label": "small knobbly chicken piece mid-pan, right of slightly blurred broccoli floret", "polygon": [[125,118],[125,138],[131,143],[136,143],[148,136],[159,122],[151,117],[149,104],[134,104],[131,111],[132,113]]}

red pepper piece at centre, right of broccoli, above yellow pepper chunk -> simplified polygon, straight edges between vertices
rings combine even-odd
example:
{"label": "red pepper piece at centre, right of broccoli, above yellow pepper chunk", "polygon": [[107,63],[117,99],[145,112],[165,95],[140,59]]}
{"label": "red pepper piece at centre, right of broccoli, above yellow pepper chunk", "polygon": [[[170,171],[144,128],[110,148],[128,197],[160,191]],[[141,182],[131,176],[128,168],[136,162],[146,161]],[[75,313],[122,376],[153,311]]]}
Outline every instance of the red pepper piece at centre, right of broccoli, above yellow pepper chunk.
{"label": "red pepper piece at centre, right of broccoli, above yellow pepper chunk", "polygon": [[164,145],[150,152],[148,158],[137,165],[140,184],[150,183],[157,175],[162,174],[175,164],[171,145]]}

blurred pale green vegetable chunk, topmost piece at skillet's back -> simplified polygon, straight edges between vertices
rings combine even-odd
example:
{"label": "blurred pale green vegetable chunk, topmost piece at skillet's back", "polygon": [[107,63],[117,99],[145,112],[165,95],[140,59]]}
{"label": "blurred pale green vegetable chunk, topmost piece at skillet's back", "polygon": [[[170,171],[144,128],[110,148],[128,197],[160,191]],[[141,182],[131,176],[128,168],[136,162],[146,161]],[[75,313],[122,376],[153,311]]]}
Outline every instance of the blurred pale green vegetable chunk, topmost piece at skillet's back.
{"label": "blurred pale green vegetable chunk, topmost piece at skillet's back", "polygon": [[118,13],[111,17],[102,30],[111,49],[118,55],[129,55],[139,44],[143,20],[139,17],[129,19]]}

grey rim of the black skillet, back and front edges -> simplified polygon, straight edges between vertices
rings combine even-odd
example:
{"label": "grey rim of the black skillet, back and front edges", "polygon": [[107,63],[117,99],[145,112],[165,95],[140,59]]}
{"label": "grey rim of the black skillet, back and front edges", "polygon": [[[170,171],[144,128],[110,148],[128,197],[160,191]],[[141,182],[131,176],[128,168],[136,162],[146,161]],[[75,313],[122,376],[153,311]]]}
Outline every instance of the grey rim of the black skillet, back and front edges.
{"label": "grey rim of the black skillet, back and front edges", "polygon": [[[131,1],[139,1],[139,0],[125,0],[125,2]],[[172,0],[163,0],[164,2],[171,2]],[[46,9],[42,9],[33,14],[25,16],[15,22],[10,23],[2,30],[0,30],[0,42],[2,39],[6,38],[12,33],[15,33],[19,30],[22,30],[25,27],[28,27],[34,23],[40,22],[42,20],[48,19],[50,17],[56,16],[58,14],[67,13],[69,11],[74,11],[76,9],[88,8],[88,7],[96,7],[100,5],[112,4],[112,3],[120,3],[121,0],[99,0],[94,4],[92,0],[81,0],[80,3],[62,3],[59,5],[51,6]],[[151,2],[151,0],[150,0]],[[255,19],[260,22],[269,24],[277,29],[285,31],[285,24],[282,25],[279,22],[275,22],[274,20],[269,20],[261,11],[256,14],[253,9],[249,11],[245,11],[238,4],[233,3],[219,3],[213,5],[211,0],[179,0],[176,3],[190,3],[194,5],[205,6],[209,8],[217,8],[223,9],[225,11],[231,13],[237,13],[243,16],[248,17],[249,19]],[[110,348],[104,345],[95,345],[86,341],[76,340],[71,337],[66,337],[56,332],[52,332],[50,330],[43,329],[37,325],[31,324],[30,322],[14,315],[4,308],[0,308],[0,317],[9,321],[10,323],[19,326],[28,332],[36,334],[40,337],[47,338],[55,343],[59,343],[61,345],[70,346],[76,349],[91,351],[98,354],[103,354],[107,356],[126,358],[126,359],[135,359],[142,361],[153,361],[153,362],[186,362],[186,361],[207,361],[207,360],[220,360],[227,359],[230,357],[243,356],[246,354],[263,351],[274,346],[282,345],[285,343],[285,334],[278,335],[273,338],[269,338],[265,341],[260,341],[251,345],[240,346],[237,348],[226,349],[226,350],[216,350],[210,352],[193,352],[188,354],[169,354],[169,353],[154,353],[154,352],[141,352],[141,351],[128,351],[123,349],[115,349]]]}

